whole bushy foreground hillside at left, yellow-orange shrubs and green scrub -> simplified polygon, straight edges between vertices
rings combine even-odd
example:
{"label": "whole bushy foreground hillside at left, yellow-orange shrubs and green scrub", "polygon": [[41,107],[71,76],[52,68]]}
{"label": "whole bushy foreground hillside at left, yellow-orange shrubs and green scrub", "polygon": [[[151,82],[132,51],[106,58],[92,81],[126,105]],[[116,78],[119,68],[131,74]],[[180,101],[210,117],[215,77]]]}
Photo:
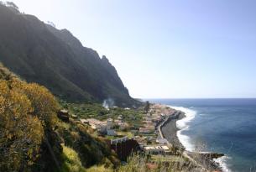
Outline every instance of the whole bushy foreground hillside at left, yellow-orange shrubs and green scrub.
{"label": "whole bushy foreground hillside at left, yellow-orange shrubs and green scrub", "polygon": [[[83,171],[118,165],[104,138],[81,122],[62,122],[44,86],[28,84],[0,65],[0,171]],[[92,170],[92,169],[91,169]]]}

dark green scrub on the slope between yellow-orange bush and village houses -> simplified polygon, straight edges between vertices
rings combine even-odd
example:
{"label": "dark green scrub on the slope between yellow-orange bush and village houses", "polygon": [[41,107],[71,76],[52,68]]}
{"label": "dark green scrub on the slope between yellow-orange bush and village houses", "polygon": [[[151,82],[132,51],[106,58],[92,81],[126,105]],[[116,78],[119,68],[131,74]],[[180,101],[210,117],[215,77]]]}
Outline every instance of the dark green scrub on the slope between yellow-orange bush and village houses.
{"label": "dark green scrub on the slope between yellow-orange bush and village houses", "polygon": [[116,155],[107,148],[104,138],[93,138],[81,122],[71,119],[69,123],[60,122],[56,132],[63,139],[65,146],[74,149],[84,167],[94,164],[118,165]]}

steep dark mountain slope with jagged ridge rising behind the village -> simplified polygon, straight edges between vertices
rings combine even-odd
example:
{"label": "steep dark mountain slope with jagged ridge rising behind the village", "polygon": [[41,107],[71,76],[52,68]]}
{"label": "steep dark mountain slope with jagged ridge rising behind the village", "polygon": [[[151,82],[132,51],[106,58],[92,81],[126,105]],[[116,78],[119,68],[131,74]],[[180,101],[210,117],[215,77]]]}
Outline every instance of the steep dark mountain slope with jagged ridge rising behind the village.
{"label": "steep dark mountain slope with jagged ridge rising behind the village", "polygon": [[105,56],[83,47],[68,30],[0,4],[0,61],[26,81],[37,82],[69,102],[112,98],[136,106]]}

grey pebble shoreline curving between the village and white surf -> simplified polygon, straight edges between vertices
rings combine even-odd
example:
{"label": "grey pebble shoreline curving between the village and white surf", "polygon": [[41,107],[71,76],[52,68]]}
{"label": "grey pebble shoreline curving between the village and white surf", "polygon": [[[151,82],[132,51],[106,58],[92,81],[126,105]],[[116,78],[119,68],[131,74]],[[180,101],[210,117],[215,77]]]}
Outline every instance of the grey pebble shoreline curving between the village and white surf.
{"label": "grey pebble shoreline curving between the village and white surf", "polygon": [[[166,107],[169,107],[168,105],[163,105]],[[185,150],[185,146],[180,142],[180,139],[178,138],[178,131],[180,131],[180,128],[177,128],[176,122],[185,118],[185,112],[182,112],[180,110],[177,110],[173,107],[170,107],[175,110],[175,113],[170,115],[165,122],[162,123],[162,126],[159,127],[161,130],[161,133],[163,134],[163,137],[168,140],[168,142],[181,150],[184,150],[182,153],[183,156],[185,156],[188,159],[191,159],[191,161],[198,166],[201,167],[203,170],[216,170],[216,171],[222,171],[222,166],[218,164],[214,159],[221,158],[224,156],[224,154],[218,154],[218,153],[201,153],[196,151],[187,151]]]}

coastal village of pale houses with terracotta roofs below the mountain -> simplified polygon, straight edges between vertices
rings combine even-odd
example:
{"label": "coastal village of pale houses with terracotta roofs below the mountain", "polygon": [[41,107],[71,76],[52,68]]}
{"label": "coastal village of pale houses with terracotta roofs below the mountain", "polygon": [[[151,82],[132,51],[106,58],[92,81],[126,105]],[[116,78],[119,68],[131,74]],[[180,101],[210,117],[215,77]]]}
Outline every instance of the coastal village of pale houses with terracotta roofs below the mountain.
{"label": "coastal village of pale houses with terracotta roofs below the mountain", "polygon": [[[129,108],[124,108],[124,110],[128,111]],[[62,111],[62,113],[68,112]],[[134,151],[163,156],[173,154],[171,144],[161,133],[161,125],[174,114],[175,110],[170,107],[159,104],[150,105],[149,110],[142,116],[142,125],[139,128],[131,128],[123,115],[115,118],[109,117],[107,120],[75,117],[91,128],[97,137],[107,138],[109,147],[118,154],[120,159],[126,160]]]}

